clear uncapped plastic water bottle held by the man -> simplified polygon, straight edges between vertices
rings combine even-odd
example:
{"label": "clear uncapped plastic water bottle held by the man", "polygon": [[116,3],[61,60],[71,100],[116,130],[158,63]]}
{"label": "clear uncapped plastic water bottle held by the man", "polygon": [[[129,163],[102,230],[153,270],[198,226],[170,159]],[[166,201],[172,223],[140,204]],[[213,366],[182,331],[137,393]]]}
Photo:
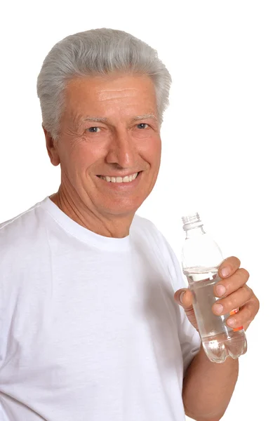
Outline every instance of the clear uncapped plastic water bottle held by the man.
{"label": "clear uncapped plastic water bottle held by the man", "polygon": [[236,359],[247,350],[246,335],[242,326],[230,328],[226,321],[229,315],[239,309],[222,316],[217,316],[212,310],[213,304],[219,299],[215,297],[214,286],[220,281],[218,268],[223,260],[222,252],[204,231],[198,213],[183,216],[182,222],[186,232],[182,270],[194,296],[194,314],[204,352],[214,363],[223,363],[227,356]]}

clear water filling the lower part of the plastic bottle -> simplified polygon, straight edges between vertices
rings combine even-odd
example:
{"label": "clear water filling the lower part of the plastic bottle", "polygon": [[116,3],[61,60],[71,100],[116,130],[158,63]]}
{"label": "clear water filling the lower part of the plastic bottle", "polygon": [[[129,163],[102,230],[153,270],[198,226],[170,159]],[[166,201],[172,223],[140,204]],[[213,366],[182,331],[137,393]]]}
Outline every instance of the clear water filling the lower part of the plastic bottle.
{"label": "clear water filling the lower part of the plastic bottle", "polygon": [[[194,271],[194,269],[192,269]],[[214,295],[214,285],[220,281],[217,268],[209,268],[207,272],[184,271],[189,282],[189,289],[194,295],[194,314],[199,327],[202,345],[208,358],[215,363],[222,363],[227,356],[233,359],[245,354],[247,349],[244,330],[234,331],[226,325],[229,313],[217,316],[212,311],[218,300]]]}

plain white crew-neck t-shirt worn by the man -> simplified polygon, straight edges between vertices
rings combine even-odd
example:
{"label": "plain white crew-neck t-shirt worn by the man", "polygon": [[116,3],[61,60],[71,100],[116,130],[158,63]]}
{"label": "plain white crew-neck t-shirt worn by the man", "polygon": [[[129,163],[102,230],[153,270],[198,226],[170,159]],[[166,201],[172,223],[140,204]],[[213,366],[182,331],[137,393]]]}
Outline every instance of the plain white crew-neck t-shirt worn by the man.
{"label": "plain white crew-neck t-shirt worn by the man", "polygon": [[0,225],[0,420],[183,421],[199,334],[180,265],[135,215],[114,239],[46,197]]}

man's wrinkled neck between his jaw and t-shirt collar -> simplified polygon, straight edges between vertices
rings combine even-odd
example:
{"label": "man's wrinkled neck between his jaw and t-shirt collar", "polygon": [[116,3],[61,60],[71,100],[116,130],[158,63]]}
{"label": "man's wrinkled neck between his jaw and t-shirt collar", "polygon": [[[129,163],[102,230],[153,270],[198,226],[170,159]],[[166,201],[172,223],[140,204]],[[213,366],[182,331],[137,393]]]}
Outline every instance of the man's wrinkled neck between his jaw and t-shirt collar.
{"label": "man's wrinkled neck between his jaw and t-shirt collar", "polygon": [[58,192],[50,196],[50,199],[69,218],[82,227],[95,232],[95,234],[120,239],[129,234],[133,215],[124,217],[100,215],[86,206],[81,199],[74,200],[71,196],[65,194],[61,185]]}

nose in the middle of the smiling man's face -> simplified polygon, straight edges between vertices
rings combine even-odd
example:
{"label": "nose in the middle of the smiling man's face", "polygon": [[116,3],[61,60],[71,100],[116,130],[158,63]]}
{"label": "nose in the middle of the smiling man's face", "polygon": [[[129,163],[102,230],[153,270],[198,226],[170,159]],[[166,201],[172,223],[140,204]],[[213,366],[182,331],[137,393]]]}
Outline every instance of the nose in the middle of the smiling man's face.
{"label": "nose in the middle of the smiling man's face", "polygon": [[106,157],[107,163],[114,163],[121,168],[135,168],[136,149],[133,138],[125,130],[114,133],[109,144],[109,151]]}

